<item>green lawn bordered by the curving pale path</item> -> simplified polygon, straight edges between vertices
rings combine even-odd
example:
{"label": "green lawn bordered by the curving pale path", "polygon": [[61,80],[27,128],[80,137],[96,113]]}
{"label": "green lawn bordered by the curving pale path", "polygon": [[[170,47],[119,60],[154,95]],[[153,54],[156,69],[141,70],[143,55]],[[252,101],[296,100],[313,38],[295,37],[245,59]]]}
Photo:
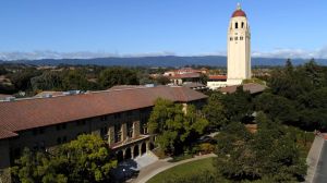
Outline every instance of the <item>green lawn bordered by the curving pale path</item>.
{"label": "green lawn bordered by the curving pale path", "polygon": [[154,178],[148,180],[147,183],[161,183],[162,180],[167,180],[168,178],[172,176],[173,174],[179,174],[181,176],[187,176],[187,175],[198,172],[199,170],[211,171],[211,170],[214,170],[213,160],[214,160],[214,158],[206,158],[206,159],[186,162],[186,163],[173,167],[171,169],[168,169],[168,170],[155,175]]}

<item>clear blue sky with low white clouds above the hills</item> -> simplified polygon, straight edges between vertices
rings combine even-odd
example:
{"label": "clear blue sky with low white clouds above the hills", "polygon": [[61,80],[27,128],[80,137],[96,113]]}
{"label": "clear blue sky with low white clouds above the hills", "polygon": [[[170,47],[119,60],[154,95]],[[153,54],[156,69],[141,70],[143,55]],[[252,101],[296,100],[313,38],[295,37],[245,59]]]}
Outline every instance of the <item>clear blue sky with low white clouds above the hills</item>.
{"label": "clear blue sky with low white clouds above the hills", "polygon": [[0,59],[225,56],[238,2],[254,57],[327,58],[326,0],[1,0]]}

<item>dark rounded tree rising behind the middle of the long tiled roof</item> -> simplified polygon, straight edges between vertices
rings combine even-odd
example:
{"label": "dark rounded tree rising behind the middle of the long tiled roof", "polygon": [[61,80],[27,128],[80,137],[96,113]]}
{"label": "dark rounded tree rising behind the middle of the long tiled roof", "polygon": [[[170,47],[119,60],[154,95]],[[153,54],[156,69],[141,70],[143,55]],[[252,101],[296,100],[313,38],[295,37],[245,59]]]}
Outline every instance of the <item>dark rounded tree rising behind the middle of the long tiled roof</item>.
{"label": "dark rounded tree rising behind the middle of the long tiled roof", "polygon": [[114,85],[138,85],[136,72],[126,68],[109,68],[100,72],[99,83],[102,88]]}

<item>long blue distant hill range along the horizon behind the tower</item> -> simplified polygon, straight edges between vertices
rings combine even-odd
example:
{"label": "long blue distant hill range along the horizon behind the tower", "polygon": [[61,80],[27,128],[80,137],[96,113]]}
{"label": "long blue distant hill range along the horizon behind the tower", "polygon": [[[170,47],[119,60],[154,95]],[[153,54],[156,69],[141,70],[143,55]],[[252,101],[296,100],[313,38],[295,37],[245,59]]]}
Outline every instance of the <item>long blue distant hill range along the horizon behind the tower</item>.
{"label": "long blue distant hill range along the horizon behind the tower", "polygon": [[[307,62],[307,59],[292,59],[294,65]],[[122,65],[122,66],[184,66],[184,65],[210,65],[226,66],[227,58],[222,56],[203,57],[132,57],[132,58],[98,58],[98,59],[43,59],[43,60],[19,60],[7,61],[34,65],[59,65],[59,64],[95,64],[95,65]],[[275,58],[252,58],[252,65],[277,66],[283,65],[286,59]],[[318,64],[327,65],[327,59],[317,59]],[[5,63],[1,62],[0,63]]]}

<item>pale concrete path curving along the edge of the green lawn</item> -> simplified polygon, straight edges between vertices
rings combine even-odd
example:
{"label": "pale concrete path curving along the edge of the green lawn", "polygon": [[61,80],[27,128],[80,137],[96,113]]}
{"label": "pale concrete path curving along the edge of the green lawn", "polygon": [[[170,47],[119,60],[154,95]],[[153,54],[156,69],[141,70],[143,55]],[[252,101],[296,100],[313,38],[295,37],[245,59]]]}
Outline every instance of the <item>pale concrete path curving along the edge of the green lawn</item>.
{"label": "pale concrete path curving along the edge of the green lawn", "polygon": [[211,158],[211,157],[216,157],[216,155],[215,154],[209,154],[209,155],[196,156],[194,158],[178,161],[178,162],[168,162],[169,159],[158,160],[157,162],[155,162],[150,166],[147,166],[144,169],[141,169],[137,179],[130,180],[129,182],[131,182],[131,183],[146,183],[146,181],[148,181],[149,179],[152,179],[156,174],[158,174],[158,173],[160,173],[165,170],[168,170],[172,167],[175,167],[175,166],[179,166],[179,164],[182,164],[182,163],[186,163],[186,162],[191,162],[191,161],[196,161],[196,160],[199,160],[199,159]]}

